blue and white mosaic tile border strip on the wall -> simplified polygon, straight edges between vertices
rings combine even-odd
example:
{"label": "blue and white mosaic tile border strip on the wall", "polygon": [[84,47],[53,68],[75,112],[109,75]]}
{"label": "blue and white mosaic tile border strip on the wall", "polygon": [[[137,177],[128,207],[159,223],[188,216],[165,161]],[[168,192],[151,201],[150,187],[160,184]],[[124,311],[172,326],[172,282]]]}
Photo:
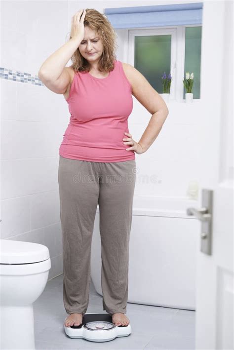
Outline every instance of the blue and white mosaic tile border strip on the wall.
{"label": "blue and white mosaic tile border strip on the wall", "polygon": [[24,83],[31,83],[34,85],[44,86],[38,76],[32,76],[29,73],[13,71],[11,69],[0,67],[0,78],[12,81],[19,81]]}

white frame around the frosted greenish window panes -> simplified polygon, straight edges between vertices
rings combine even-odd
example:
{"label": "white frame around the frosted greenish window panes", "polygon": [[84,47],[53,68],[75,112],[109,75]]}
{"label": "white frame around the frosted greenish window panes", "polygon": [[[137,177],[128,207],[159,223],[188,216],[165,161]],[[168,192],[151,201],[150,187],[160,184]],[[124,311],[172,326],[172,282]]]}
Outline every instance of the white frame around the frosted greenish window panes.
{"label": "white frame around the frosted greenish window panes", "polygon": [[[200,24],[172,26],[172,27],[155,27],[140,28],[127,30],[127,47],[124,49],[124,60],[134,66],[134,42],[135,37],[171,35],[171,73],[172,82],[170,87],[170,102],[176,101],[184,103],[184,67],[185,67],[185,31],[187,27],[201,27]],[[190,72],[192,73],[192,72]],[[162,72],[163,74],[163,72]],[[196,99],[199,100],[199,99]],[[195,101],[196,101],[195,100]]]}

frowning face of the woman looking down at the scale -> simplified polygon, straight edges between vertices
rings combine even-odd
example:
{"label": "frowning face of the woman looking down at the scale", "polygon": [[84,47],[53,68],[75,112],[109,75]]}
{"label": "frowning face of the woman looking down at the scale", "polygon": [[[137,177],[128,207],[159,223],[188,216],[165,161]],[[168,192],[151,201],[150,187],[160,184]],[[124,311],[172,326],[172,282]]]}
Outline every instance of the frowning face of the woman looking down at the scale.
{"label": "frowning face of the woman looking down at the scale", "polygon": [[[102,56],[103,44],[97,32],[84,27],[84,39],[78,46],[80,54],[90,63],[98,62]],[[93,53],[89,55],[88,53]]]}

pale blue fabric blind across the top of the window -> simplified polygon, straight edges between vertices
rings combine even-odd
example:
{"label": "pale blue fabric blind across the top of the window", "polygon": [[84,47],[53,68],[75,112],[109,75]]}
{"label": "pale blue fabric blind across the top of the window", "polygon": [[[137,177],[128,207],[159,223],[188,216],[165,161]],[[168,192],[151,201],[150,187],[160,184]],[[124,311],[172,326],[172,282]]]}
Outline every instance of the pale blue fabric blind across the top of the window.
{"label": "pale blue fabric blind across the top of the window", "polygon": [[141,28],[202,24],[203,2],[174,5],[105,8],[114,28]]}

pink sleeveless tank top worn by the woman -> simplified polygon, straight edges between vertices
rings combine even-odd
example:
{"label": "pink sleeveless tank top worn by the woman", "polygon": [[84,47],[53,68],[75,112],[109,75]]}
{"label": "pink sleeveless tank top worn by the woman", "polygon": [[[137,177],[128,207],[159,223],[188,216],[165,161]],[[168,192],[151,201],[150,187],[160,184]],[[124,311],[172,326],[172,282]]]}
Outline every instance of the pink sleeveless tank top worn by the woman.
{"label": "pink sleeveless tank top worn by the woman", "polygon": [[63,135],[59,155],[70,159],[117,162],[135,159],[126,151],[124,132],[132,112],[132,88],[122,63],[106,78],[95,78],[88,72],[75,72],[68,102],[70,122]]}

